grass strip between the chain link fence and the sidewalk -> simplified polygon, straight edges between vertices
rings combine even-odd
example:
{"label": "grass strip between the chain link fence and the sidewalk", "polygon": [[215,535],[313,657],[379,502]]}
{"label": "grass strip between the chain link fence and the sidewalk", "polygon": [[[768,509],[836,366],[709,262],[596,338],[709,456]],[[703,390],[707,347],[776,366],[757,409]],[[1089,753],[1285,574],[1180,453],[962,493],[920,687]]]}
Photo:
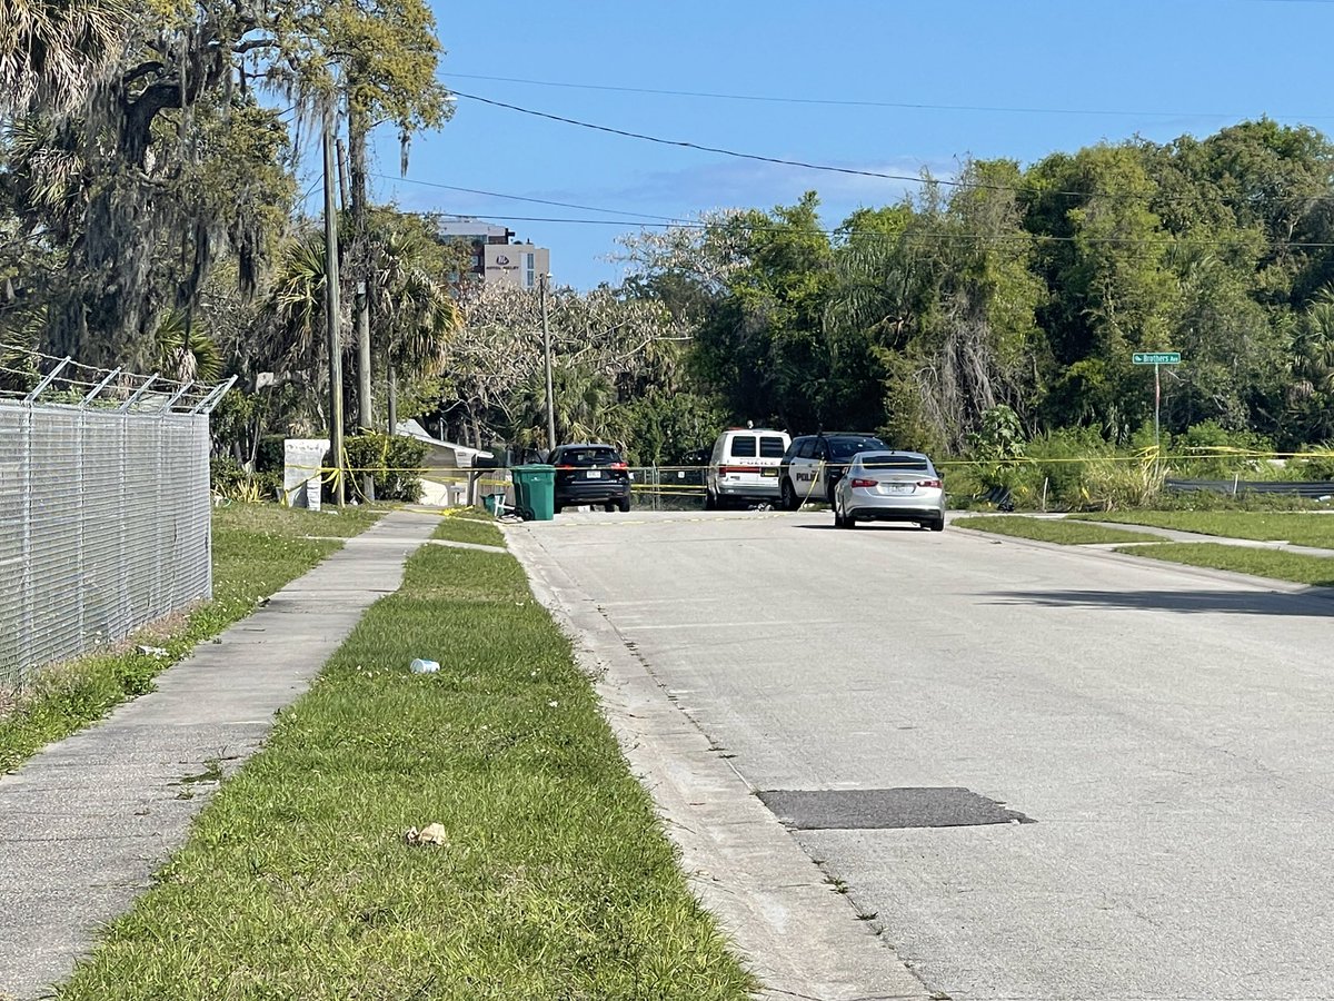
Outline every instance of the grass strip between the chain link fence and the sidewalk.
{"label": "grass strip between the chain link fence and the sidewalk", "polygon": [[[15,705],[0,715],[0,771],[17,767],[45,745],[101,719],[125,699],[152,691],[153,678],[185,657],[196,643],[248,615],[260,598],[342,546],[303,535],[355,535],[382,514],[320,514],[279,505],[216,509],[212,601],[140,630],[105,653],[41,670]],[[143,653],[140,646],[155,653]]]}

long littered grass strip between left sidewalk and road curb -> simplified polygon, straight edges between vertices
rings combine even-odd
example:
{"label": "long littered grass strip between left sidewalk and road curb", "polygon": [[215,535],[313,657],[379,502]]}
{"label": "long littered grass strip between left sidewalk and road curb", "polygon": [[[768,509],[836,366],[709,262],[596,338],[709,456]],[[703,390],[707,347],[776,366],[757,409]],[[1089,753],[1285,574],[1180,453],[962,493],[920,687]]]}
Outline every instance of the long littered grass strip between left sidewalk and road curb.
{"label": "long littered grass strip between left sidewalk and road curb", "polygon": [[[415,657],[440,671],[411,674]],[[404,842],[432,822],[446,845]],[[518,562],[424,546],[57,996],[740,1001],[752,986]]]}

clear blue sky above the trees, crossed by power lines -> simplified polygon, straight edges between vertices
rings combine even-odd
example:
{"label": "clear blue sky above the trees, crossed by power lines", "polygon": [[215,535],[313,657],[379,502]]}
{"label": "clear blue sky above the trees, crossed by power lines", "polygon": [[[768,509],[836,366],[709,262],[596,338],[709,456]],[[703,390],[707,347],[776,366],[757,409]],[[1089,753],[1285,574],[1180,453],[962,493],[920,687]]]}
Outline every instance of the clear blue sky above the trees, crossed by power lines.
{"label": "clear blue sky above the trees, crossed by power lines", "polygon": [[[1205,136],[1261,115],[1334,129],[1334,0],[436,0],[435,11],[447,49],[442,79],[454,89],[664,139],[887,174],[926,167],[948,176],[966,156],[1029,164],[1099,140]],[[506,223],[551,248],[563,284],[622,276],[606,258],[616,234],[636,228],[630,216],[434,188],[399,180],[398,168],[387,133],[380,200]],[[468,97],[440,132],[414,141],[408,178],[670,218],[771,208],[814,188],[830,227],[914,187],[624,139]]]}

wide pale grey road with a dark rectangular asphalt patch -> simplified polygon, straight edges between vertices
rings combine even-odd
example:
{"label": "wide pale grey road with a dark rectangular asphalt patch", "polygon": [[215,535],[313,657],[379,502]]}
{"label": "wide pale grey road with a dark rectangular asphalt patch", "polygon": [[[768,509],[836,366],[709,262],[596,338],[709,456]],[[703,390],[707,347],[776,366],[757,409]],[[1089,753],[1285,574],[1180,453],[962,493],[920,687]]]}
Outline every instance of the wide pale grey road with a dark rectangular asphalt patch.
{"label": "wide pale grey road with a dark rectangular asphalt patch", "polygon": [[755,790],[858,790],[766,801],[930,989],[1334,998],[1334,601],[827,514],[530,531]]}

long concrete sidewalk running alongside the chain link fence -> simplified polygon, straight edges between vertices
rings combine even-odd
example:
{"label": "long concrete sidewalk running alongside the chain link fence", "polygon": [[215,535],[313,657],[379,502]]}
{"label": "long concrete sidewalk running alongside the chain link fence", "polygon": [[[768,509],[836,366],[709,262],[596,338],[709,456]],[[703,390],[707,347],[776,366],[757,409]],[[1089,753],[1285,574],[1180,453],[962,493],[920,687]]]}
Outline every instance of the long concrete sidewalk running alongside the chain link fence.
{"label": "long concrete sidewalk running alongside the chain link fence", "polygon": [[63,980],[253,754],[439,518],[395,511],[164,671],[157,690],[0,777],[0,998]]}

